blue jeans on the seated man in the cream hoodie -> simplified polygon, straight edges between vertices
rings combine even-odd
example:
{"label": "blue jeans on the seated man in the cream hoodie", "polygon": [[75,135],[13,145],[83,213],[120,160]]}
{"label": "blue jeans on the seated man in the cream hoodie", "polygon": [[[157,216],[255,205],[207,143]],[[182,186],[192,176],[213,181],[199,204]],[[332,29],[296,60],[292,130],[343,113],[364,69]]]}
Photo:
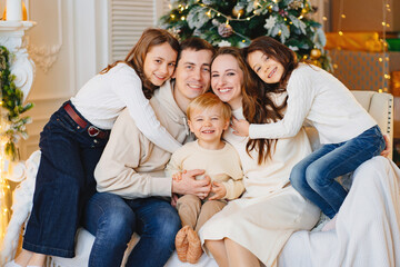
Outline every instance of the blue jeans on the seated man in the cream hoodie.
{"label": "blue jeans on the seated man in the cream hoodie", "polygon": [[139,243],[126,266],[162,267],[174,250],[174,237],[181,227],[177,210],[160,198],[123,199],[98,192],[88,202],[84,228],[94,237],[90,267],[120,266],[133,233]]}

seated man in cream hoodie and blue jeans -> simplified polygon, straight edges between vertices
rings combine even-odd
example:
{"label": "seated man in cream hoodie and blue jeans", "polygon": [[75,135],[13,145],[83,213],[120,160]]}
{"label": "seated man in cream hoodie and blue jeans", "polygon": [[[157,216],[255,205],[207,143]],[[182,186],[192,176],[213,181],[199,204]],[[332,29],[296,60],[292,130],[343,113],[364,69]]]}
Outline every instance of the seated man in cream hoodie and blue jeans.
{"label": "seated man in cream hoodie and blue jeans", "polygon": [[[213,48],[199,38],[181,43],[174,82],[166,82],[150,100],[160,122],[180,142],[189,137],[186,108],[210,86]],[[133,233],[140,240],[127,266],[163,266],[174,249],[180,228],[177,211],[161,197],[210,191],[210,180],[196,180],[202,170],[191,170],[177,182],[162,177],[170,154],[151,144],[136,127],[128,111],[117,119],[110,140],[96,168],[98,194],[89,201],[84,227],[96,236],[89,266],[120,266]],[[151,172],[151,175],[150,175]]]}

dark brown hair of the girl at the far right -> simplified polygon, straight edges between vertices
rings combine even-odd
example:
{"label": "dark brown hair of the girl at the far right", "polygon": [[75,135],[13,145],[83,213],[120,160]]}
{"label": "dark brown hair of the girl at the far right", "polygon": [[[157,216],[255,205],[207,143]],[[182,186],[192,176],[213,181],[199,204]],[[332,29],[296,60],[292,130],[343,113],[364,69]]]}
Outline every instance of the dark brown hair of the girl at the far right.
{"label": "dark brown hair of the girl at the far right", "polygon": [[268,57],[273,58],[274,60],[280,62],[284,69],[281,80],[276,85],[266,83],[267,87],[270,87],[271,90],[286,89],[287,81],[291,72],[293,71],[293,69],[296,69],[299,66],[296,53],[283,43],[268,36],[261,36],[256,38],[254,40],[251,41],[249,47],[243,49],[243,57],[247,62],[248,62],[249,53],[256,51],[260,51],[267,55]]}

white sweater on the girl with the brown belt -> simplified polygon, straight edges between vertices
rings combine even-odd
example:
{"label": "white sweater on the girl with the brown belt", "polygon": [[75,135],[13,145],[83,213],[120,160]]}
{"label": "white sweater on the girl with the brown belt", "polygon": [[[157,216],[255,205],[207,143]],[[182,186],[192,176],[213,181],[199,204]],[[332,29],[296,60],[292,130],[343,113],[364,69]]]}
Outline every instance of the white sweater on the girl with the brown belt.
{"label": "white sweater on the girl with the brown belt", "polygon": [[139,76],[126,63],[118,63],[108,72],[94,76],[71,98],[71,102],[87,120],[101,129],[111,129],[117,117],[128,107],[139,130],[153,144],[169,152],[181,147],[160,125],[143,95]]}

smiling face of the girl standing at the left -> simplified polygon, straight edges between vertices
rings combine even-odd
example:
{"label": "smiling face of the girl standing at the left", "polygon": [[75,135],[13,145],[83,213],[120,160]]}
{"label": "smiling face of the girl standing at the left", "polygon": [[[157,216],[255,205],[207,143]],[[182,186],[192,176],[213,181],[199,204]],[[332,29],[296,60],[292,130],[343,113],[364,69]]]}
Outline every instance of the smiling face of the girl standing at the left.
{"label": "smiling face of the girl standing at the left", "polygon": [[177,56],[168,42],[151,47],[143,63],[146,78],[154,86],[162,86],[173,73]]}

